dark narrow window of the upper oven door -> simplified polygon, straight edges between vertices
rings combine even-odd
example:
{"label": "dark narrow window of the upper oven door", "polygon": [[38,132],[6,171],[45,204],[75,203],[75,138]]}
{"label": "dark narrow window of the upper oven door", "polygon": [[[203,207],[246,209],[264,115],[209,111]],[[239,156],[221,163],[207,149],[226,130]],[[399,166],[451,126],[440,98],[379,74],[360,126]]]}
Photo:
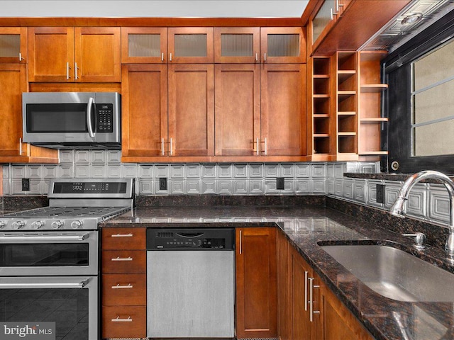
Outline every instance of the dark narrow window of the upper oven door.
{"label": "dark narrow window of the upper oven door", "polygon": [[88,266],[89,244],[0,244],[0,266]]}

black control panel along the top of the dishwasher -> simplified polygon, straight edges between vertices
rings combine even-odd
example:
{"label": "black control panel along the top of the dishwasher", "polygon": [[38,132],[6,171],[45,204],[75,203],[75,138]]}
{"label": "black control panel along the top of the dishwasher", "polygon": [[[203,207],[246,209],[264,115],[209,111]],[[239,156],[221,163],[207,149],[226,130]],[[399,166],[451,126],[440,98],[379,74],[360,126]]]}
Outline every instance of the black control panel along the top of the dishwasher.
{"label": "black control panel along the top of the dishwasher", "polygon": [[147,250],[233,250],[235,229],[148,228]]}

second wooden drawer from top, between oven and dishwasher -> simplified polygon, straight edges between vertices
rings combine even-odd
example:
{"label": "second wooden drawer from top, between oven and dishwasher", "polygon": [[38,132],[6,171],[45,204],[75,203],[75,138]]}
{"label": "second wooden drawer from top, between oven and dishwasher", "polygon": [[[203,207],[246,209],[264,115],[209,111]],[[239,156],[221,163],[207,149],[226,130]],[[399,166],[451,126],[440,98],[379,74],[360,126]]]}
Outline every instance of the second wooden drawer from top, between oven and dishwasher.
{"label": "second wooden drawer from top, between oven and dishwasher", "polygon": [[102,251],[102,273],[144,274],[147,267],[145,250],[105,250]]}

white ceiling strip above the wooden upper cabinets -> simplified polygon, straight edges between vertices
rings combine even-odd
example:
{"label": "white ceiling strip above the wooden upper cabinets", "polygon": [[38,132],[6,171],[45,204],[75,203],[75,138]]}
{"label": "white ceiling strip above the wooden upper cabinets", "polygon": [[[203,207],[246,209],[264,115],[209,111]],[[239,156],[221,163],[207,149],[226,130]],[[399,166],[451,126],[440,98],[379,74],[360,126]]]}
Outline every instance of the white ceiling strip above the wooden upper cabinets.
{"label": "white ceiling strip above the wooden upper cabinets", "polygon": [[300,18],[309,0],[0,0],[0,17]]}

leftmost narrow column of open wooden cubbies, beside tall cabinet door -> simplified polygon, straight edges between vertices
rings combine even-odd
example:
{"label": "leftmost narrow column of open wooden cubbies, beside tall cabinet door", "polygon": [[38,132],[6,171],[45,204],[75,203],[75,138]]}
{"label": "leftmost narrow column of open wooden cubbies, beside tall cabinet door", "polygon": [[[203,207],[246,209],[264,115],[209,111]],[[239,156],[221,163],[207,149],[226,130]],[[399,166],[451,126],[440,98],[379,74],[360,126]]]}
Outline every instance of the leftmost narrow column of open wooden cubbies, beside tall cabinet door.
{"label": "leftmost narrow column of open wooden cubbies, beside tall cabinet door", "polygon": [[333,160],[331,58],[312,58],[312,161]]}

